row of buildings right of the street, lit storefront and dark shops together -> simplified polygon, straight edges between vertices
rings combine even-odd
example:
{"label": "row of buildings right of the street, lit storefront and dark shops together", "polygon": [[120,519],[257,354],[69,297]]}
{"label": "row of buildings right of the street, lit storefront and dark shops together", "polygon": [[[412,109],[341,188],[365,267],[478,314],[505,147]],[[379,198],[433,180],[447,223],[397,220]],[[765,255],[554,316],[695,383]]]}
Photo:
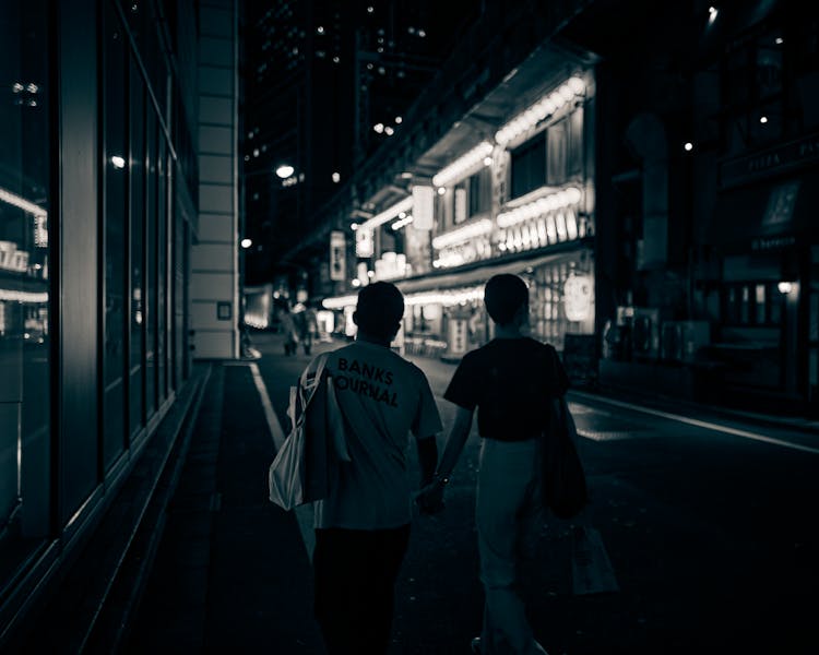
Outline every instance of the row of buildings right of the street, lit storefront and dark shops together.
{"label": "row of buildings right of the street, lit storefront and dark shops together", "polygon": [[[533,334],[580,379],[814,412],[816,10],[533,11],[488,5],[407,111],[424,129],[370,157],[304,236],[349,248],[324,305],[348,319],[356,288],[393,279],[403,347],[456,358],[491,336],[479,288],[511,271],[533,291]],[[490,33],[515,38],[486,56],[474,44]]]}

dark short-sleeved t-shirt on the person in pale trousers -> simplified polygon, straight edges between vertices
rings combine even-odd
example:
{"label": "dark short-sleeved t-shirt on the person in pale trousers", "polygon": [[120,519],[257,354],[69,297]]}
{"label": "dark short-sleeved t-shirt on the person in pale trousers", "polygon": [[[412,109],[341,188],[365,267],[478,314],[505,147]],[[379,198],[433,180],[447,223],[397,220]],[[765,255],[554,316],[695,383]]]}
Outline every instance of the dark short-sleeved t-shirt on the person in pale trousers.
{"label": "dark short-sleeved t-shirt on the person in pale trousers", "polygon": [[498,441],[536,437],[546,425],[548,398],[569,388],[554,346],[533,338],[495,338],[464,355],[443,393],[478,409],[478,433]]}

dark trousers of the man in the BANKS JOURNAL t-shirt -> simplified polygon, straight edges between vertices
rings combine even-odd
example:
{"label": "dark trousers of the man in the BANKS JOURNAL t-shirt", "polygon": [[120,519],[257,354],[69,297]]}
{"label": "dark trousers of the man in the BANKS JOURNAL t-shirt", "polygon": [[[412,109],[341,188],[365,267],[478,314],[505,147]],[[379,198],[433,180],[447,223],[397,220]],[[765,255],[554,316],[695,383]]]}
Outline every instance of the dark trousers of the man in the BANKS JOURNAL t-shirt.
{"label": "dark trousers of the man in the BANKS JOURNAL t-shirt", "polygon": [[384,655],[410,525],[316,531],[314,611],[330,655]]}

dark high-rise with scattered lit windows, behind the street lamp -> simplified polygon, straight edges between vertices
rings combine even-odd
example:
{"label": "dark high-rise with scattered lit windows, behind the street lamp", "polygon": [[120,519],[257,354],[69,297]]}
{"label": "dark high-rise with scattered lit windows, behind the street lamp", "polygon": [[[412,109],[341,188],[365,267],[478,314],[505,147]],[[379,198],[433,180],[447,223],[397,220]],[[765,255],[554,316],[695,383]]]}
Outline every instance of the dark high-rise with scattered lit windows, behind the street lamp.
{"label": "dark high-rise with scattered lit windows, behind the street lamp", "polygon": [[[294,273],[282,255],[355,168],[402,129],[479,3],[275,0],[246,7],[241,152],[248,284]],[[281,166],[283,177],[276,175]]]}

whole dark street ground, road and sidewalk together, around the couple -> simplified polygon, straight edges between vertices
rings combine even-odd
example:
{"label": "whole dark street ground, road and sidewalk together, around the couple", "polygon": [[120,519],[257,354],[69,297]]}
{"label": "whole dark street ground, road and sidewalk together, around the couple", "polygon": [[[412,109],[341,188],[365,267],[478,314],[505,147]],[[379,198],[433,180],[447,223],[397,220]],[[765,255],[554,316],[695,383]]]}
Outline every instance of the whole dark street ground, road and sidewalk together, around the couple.
{"label": "whole dark street ground, road and sidewalk together, around the couple", "polygon": [[[190,505],[171,503],[178,509],[169,514],[169,540],[131,633],[133,653],[163,645],[178,652],[323,653],[311,617],[309,523],[301,521],[299,529],[296,516],[266,502],[272,436],[252,381],[256,366],[286,428],[288,388],[309,358],[284,357],[277,334],[257,333],[252,341],[261,359],[213,373],[224,376],[225,404],[210,409],[222,416],[218,458],[214,453],[211,461],[219,509],[201,535],[204,524],[186,514]],[[341,345],[321,344],[319,352]],[[412,359],[436,393],[442,440],[453,406],[440,394],[454,366]],[[731,419],[704,408],[580,392],[570,392],[570,407],[592,495],[583,521],[600,529],[620,591],[572,595],[572,522],[547,516],[522,581],[535,634],[549,653],[814,652],[816,426],[775,427],[759,417]],[[473,433],[444,511],[413,522],[391,655],[467,653],[479,630],[477,448]],[[413,448],[410,461],[415,480]],[[210,503],[210,497],[200,500]],[[192,534],[210,543],[199,567],[181,550]]]}

